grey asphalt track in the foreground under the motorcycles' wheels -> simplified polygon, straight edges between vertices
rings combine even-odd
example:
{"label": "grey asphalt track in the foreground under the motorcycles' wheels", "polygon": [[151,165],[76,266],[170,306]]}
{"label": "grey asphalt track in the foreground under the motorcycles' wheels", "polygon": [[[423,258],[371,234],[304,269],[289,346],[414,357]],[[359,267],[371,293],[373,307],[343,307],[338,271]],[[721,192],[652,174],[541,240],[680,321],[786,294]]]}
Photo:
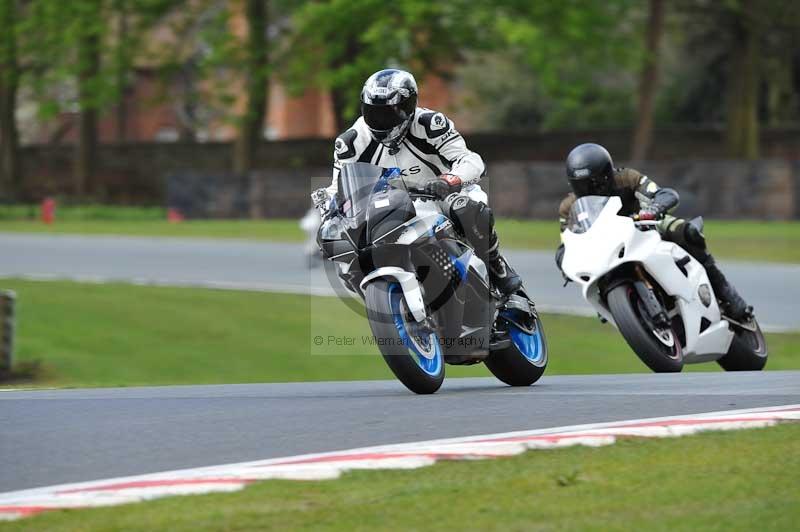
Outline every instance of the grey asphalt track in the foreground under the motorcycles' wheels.
{"label": "grey asphalt track in the foreground under the motorcycles' wheels", "polygon": [[[388,371],[388,370],[387,370]],[[800,403],[800,371],[0,392],[0,492],[368,445]]]}

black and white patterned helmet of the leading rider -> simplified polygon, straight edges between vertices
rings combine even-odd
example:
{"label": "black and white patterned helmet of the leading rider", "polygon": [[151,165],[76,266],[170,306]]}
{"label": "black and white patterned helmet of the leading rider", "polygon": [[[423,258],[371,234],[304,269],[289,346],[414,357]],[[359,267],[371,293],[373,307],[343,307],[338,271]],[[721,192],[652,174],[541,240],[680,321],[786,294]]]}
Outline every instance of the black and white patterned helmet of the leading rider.
{"label": "black and white patterned helmet of the leading rider", "polygon": [[361,90],[361,116],[372,138],[396,148],[405,137],[417,109],[417,82],[405,70],[379,70]]}

